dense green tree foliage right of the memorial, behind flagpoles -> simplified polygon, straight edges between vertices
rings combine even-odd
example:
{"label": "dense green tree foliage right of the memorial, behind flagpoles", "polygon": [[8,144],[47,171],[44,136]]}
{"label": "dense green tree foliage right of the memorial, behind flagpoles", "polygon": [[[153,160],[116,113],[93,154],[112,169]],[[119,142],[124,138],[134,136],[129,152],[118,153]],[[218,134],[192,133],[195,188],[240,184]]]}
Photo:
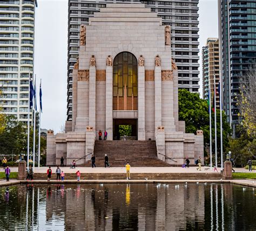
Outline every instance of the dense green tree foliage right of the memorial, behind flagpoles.
{"label": "dense green tree foliage right of the memorial, behind flagpoles", "polygon": [[[217,149],[220,152],[220,110],[217,109]],[[196,134],[197,130],[204,132],[204,144],[210,143],[210,114],[206,100],[200,99],[199,94],[179,89],[179,120],[185,121],[186,132]],[[228,146],[228,136],[231,134],[226,115],[223,111],[223,147]],[[214,152],[214,113],[212,113],[212,148]]]}

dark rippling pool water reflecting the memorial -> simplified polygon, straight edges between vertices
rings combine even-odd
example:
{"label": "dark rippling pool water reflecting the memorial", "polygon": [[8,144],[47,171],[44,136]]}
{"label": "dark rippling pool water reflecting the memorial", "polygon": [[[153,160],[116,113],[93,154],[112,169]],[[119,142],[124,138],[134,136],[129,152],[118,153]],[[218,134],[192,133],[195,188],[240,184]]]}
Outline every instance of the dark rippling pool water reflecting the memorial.
{"label": "dark rippling pool water reflecting the memorial", "polygon": [[256,230],[256,190],[232,184],[0,188],[0,230]]}

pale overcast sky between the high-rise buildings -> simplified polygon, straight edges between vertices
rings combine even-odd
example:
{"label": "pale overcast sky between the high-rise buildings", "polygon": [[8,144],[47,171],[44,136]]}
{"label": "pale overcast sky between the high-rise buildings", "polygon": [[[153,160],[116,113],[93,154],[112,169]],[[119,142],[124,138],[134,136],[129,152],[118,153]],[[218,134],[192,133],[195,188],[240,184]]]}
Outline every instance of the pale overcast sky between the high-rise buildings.
{"label": "pale overcast sky between the high-rise buildings", "polygon": [[[68,0],[37,0],[35,74],[42,79],[42,128],[60,130],[66,120]],[[199,49],[218,37],[218,0],[199,0]],[[200,78],[201,78],[201,59]],[[200,81],[201,84],[201,81]],[[200,88],[201,92],[201,88]]]}

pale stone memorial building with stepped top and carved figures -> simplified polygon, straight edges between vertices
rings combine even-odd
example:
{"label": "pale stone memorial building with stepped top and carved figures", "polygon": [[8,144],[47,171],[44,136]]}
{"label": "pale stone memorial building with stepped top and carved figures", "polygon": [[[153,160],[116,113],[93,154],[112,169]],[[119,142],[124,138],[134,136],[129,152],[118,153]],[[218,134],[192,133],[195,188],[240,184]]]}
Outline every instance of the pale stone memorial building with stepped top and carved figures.
{"label": "pale stone memorial building with stepped top and carved figures", "polygon": [[[111,158],[118,144],[132,142],[136,152],[136,146],[150,142],[156,150],[151,154],[172,165],[204,155],[203,132],[186,134],[178,120],[171,27],[144,4],[107,4],[80,27],[72,102],[73,120],[66,122],[65,133],[48,131],[48,165],[59,164],[61,157],[67,165],[73,159],[85,164],[96,144],[109,144],[100,155]],[[131,136],[120,136],[119,125],[130,125]],[[98,141],[99,130],[107,131],[106,141]]]}

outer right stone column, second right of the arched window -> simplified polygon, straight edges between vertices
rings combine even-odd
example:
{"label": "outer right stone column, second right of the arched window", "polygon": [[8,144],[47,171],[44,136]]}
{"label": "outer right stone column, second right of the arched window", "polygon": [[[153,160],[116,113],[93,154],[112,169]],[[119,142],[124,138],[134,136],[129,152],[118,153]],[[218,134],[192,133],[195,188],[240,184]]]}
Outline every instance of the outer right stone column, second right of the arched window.
{"label": "outer right stone column, second right of the arched window", "polygon": [[154,128],[161,126],[161,67],[154,68]]}

